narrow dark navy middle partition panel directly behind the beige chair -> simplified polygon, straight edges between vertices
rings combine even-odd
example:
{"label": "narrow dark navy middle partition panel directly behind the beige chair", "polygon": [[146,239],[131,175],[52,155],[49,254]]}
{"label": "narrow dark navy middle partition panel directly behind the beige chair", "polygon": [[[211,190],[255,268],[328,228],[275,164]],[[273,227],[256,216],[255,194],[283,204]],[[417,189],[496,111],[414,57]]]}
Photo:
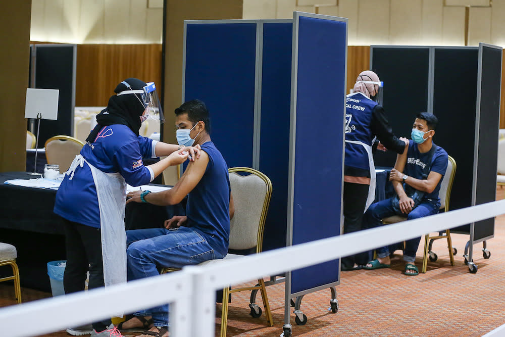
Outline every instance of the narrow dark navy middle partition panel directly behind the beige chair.
{"label": "narrow dark navy middle partition panel directly behind the beige chair", "polygon": [[259,170],[272,181],[263,250],[285,247],[293,22],[262,22]]}

